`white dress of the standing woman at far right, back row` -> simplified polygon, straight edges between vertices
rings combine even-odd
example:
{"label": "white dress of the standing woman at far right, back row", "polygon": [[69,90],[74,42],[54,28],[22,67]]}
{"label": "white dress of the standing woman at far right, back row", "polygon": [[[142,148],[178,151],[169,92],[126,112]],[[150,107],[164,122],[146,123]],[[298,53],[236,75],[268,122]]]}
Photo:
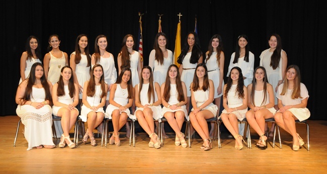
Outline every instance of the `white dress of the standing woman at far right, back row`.
{"label": "white dress of the standing woman at far right, back row", "polygon": [[[268,77],[268,82],[273,86],[274,89],[274,96],[276,95],[276,86],[278,84],[279,80],[283,79],[283,75],[282,75],[282,57],[280,57],[280,61],[278,64],[278,67],[276,69],[273,69],[270,66],[270,62],[271,62],[271,56],[273,55],[273,52],[270,52],[269,49],[266,49],[265,51],[263,51],[260,55],[260,66],[263,66],[266,69],[267,72],[267,77]],[[285,52],[284,50],[282,50],[282,53]],[[285,52],[286,54],[286,52]],[[281,54],[282,55],[282,54]],[[275,105],[278,104],[278,100],[275,97]]]}

